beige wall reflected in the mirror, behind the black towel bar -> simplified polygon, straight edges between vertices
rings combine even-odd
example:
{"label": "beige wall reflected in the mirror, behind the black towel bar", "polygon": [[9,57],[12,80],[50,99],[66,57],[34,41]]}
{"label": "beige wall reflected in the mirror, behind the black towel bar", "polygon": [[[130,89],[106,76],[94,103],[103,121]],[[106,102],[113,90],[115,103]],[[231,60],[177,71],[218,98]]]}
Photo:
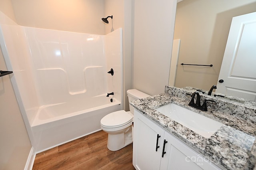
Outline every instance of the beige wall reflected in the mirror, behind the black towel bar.
{"label": "beige wall reflected in the mirror, behind the black towel bar", "polygon": [[[176,10],[174,39],[180,39],[176,87],[209,90],[216,85],[232,17],[256,11],[256,0],[183,0]],[[213,64],[213,67],[188,66]]]}

